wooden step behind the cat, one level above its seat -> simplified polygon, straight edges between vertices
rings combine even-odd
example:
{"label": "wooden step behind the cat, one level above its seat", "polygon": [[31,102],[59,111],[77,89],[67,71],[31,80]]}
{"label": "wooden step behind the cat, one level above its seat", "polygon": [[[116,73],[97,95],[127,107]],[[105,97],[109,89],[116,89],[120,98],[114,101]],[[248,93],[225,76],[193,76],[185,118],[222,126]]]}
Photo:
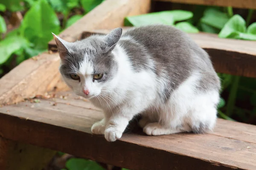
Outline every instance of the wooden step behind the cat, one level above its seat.
{"label": "wooden step behind the cat, one level above its seat", "polygon": [[[125,28],[124,31],[126,31]],[[92,34],[108,34],[111,31],[84,31],[81,35],[86,38]],[[210,55],[217,72],[244,77],[256,77],[256,42],[246,40],[222,39],[216,34],[197,33],[190,37]]]}

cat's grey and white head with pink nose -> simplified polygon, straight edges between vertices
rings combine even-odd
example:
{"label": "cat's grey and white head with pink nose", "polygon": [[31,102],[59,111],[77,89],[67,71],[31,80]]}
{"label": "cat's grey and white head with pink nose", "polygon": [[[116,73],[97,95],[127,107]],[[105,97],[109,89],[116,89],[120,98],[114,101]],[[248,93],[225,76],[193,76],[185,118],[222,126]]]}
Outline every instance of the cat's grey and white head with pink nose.
{"label": "cat's grey and white head with pink nose", "polygon": [[61,58],[59,71],[77,95],[91,98],[111,87],[118,70],[113,51],[121,35],[122,28],[116,28],[105,36],[67,42],[53,34]]}

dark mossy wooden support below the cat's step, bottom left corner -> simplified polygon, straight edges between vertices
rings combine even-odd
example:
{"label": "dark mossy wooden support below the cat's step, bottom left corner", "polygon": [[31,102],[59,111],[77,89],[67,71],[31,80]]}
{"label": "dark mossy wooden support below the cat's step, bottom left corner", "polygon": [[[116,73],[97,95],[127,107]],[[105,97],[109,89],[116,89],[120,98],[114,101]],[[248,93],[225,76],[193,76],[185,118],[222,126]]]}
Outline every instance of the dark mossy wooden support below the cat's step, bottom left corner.
{"label": "dark mossy wooden support below the cat's step, bottom left corner", "polygon": [[0,136],[0,170],[42,170],[56,151]]}

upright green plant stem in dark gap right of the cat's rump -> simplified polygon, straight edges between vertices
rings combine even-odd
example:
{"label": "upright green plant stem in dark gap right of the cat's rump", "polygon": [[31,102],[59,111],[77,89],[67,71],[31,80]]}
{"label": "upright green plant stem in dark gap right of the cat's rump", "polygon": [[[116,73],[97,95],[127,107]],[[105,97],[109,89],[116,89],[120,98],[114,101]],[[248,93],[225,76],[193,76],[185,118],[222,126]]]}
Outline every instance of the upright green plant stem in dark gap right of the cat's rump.
{"label": "upright green plant stem in dark gap right of the cat's rump", "polygon": [[230,94],[227,100],[227,112],[226,112],[227,116],[232,115],[232,112],[236,103],[236,93],[239,85],[239,79],[240,79],[239,76],[233,77],[233,83],[231,85]]}

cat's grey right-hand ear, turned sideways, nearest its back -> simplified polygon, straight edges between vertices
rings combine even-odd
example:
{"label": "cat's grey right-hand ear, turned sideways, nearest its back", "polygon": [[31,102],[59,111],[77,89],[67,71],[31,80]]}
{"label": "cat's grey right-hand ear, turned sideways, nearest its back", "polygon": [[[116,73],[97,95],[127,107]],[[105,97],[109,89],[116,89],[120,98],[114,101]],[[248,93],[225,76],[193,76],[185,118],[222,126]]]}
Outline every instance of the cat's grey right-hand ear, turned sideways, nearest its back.
{"label": "cat's grey right-hand ear, turned sideways, nearest its back", "polygon": [[115,28],[109,34],[106,35],[105,42],[108,43],[108,51],[113,50],[113,48],[116,46],[117,42],[121,38],[121,35],[122,28]]}

